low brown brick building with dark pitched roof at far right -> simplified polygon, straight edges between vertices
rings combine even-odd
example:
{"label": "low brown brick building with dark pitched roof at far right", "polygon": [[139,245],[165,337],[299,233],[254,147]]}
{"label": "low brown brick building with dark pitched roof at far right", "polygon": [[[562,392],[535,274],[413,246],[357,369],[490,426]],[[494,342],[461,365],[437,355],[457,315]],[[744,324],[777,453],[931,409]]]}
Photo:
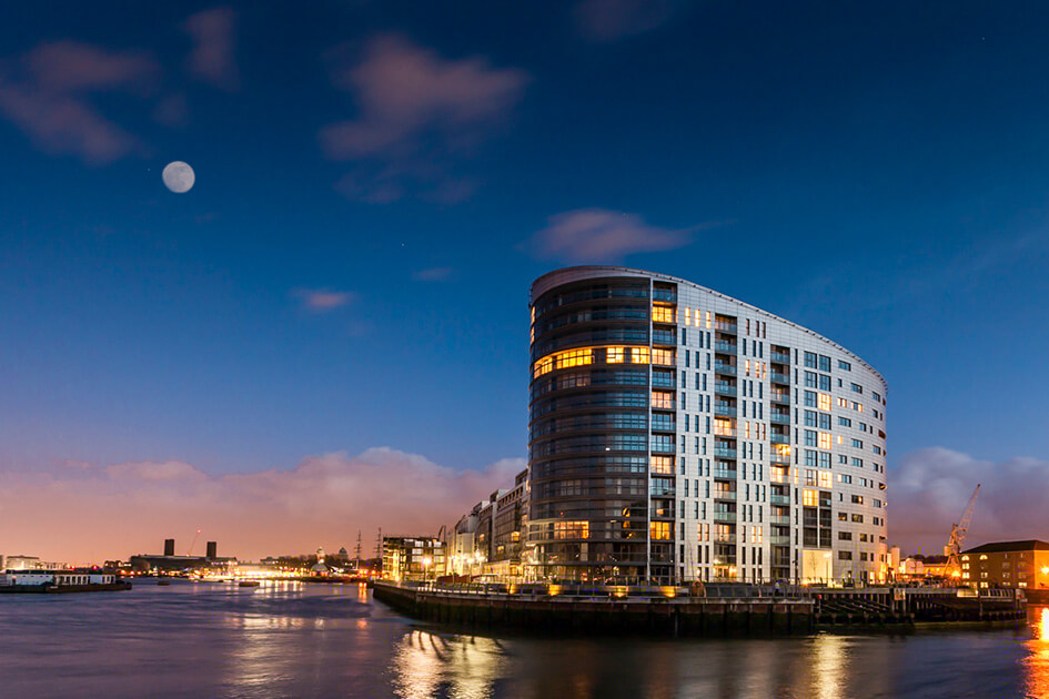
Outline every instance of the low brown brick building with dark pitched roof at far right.
{"label": "low brown brick building with dark pitched roof at far right", "polygon": [[1049,589],[1049,543],[993,541],[961,553],[961,579],[981,588]]}

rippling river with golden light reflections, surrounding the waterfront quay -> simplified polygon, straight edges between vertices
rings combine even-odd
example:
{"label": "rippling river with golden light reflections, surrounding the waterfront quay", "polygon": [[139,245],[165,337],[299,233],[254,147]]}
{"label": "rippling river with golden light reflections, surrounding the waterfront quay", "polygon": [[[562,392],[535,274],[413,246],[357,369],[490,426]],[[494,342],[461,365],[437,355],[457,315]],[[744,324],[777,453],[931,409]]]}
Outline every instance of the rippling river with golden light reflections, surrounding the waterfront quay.
{"label": "rippling river with golden light reflections, surrounding the waterfront quay", "polygon": [[1049,699],[1049,608],[1019,629],[674,640],[456,634],[356,586],[0,595],[0,697],[189,696]]}

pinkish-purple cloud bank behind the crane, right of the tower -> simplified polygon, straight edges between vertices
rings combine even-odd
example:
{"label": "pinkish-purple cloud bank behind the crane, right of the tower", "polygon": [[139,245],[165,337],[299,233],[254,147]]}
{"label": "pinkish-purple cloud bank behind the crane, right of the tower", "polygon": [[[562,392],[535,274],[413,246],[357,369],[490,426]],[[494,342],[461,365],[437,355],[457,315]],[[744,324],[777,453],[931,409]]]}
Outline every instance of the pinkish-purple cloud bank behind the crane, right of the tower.
{"label": "pinkish-purple cloud bank behind the crane, right of the tower", "polygon": [[889,538],[905,554],[941,553],[976,485],[966,546],[1013,539],[1049,540],[1049,462],[1016,457],[993,463],[944,447],[904,457],[888,474]]}

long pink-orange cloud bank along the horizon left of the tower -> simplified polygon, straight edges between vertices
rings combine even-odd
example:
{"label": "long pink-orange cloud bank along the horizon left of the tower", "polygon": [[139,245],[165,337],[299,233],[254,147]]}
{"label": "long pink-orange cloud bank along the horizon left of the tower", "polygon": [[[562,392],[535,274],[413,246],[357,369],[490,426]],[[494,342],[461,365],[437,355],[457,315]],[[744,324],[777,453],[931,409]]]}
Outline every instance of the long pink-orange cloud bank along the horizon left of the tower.
{"label": "long pink-orange cloud bank along the horizon left of the tower", "polygon": [[[317,546],[367,548],[386,533],[436,534],[500,487],[524,459],[455,470],[386,447],[310,456],[291,469],[212,476],[181,462],[120,464],[58,475],[0,478],[0,550],[87,563],[159,553],[173,536],[184,553],[196,529],[220,554],[258,559]],[[41,521],[33,513],[47,511]],[[132,525],[133,526],[129,526]]]}

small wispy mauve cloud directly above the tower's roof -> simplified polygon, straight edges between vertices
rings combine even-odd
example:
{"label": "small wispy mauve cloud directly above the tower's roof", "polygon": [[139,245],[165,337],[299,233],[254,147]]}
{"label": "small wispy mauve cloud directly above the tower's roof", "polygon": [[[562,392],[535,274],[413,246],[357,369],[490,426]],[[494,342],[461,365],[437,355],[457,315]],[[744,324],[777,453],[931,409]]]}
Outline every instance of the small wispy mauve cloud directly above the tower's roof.
{"label": "small wispy mauve cloud directly above the tower's roof", "polygon": [[551,216],[526,247],[542,260],[615,262],[632,253],[683,247],[692,241],[693,231],[713,225],[717,224],[670,230],[649,225],[636,214],[579,209]]}

